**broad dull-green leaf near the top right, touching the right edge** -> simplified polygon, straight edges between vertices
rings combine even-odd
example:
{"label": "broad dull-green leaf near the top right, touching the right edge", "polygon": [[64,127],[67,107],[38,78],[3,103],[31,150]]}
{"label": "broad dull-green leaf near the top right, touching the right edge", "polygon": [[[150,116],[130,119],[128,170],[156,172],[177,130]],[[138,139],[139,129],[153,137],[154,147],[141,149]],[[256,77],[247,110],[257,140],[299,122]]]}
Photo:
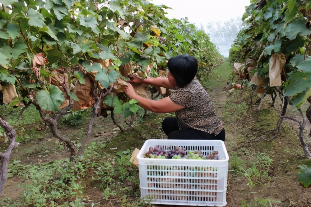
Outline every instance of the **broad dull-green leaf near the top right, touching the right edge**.
{"label": "broad dull-green leaf near the top right, touching the right edge", "polygon": [[290,22],[282,32],[282,37],[286,36],[288,39],[295,39],[298,34],[301,36],[311,34],[311,30],[307,28],[304,18]]}

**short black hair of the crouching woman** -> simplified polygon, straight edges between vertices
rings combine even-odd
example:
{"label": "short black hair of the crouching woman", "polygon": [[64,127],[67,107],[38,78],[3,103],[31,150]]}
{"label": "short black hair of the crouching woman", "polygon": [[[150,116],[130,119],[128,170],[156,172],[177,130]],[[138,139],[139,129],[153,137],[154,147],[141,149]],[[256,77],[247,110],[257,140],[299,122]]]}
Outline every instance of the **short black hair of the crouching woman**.
{"label": "short black hair of the crouching woman", "polygon": [[184,87],[197,75],[197,58],[191,55],[178,55],[169,59],[167,67],[177,85]]}

